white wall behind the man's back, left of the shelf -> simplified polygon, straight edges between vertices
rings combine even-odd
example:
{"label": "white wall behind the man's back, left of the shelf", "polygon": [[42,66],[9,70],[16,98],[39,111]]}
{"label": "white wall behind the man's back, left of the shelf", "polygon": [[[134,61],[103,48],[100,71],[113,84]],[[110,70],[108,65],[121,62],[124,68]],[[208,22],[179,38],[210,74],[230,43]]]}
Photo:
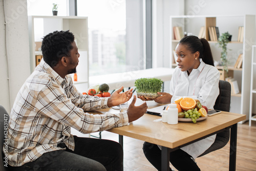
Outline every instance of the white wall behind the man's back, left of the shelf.
{"label": "white wall behind the man's back, left of the shelf", "polygon": [[0,0],[0,5],[0,104],[10,113],[19,89],[30,75],[27,1]]}

